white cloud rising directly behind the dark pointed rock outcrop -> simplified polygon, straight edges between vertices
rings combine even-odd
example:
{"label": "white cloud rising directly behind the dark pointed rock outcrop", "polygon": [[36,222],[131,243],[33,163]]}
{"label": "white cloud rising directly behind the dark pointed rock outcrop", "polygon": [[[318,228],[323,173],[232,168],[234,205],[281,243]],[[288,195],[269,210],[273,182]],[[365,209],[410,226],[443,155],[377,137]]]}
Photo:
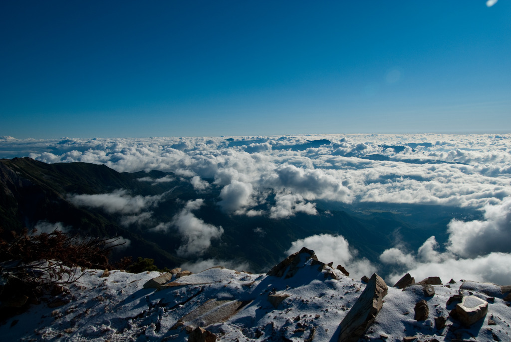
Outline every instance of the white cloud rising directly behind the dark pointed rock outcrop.
{"label": "white cloud rising directly behind the dark pointed rock outcrop", "polygon": [[299,239],[291,244],[287,254],[298,252],[301,247],[314,250],[318,260],[329,263],[334,262],[334,267],[339,264],[350,272],[350,277],[361,278],[372,275],[376,267],[365,258],[358,258],[358,250],[350,248],[350,244],[342,235],[319,234],[305,239]]}

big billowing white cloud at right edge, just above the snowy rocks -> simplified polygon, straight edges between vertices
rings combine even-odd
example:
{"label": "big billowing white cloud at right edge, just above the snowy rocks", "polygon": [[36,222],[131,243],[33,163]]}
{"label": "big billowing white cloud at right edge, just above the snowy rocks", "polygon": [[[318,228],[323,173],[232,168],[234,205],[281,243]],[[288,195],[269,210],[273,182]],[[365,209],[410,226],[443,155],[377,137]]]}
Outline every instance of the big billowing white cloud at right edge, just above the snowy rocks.
{"label": "big billowing white cloud at right edge, just above the snowy rocks", "polygon": [[452,220],[445,252],[434,236],[413,253],[405,254],[398,248],[386,249],[380,261],[395,267],[389,279],[398,281],[410,273],[417,281],[430,276],[449,279],[468,279],[511,284],[511,198],[502,203],[484,207],[484,220]]}

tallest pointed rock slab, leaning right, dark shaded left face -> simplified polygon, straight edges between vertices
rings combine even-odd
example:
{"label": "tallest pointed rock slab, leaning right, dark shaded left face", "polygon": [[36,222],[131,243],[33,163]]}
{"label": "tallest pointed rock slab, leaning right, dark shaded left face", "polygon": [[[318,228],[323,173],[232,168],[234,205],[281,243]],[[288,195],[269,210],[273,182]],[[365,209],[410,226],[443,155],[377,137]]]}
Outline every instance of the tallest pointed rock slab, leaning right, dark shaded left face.
{"label": "tallest pointed rock slab, leaning right, dark shaded left face", "polygon": [[355,342],[362,337],[380,312],[387,290],[385,281],[374,273],[358,300],[342,320],[339,342]]}

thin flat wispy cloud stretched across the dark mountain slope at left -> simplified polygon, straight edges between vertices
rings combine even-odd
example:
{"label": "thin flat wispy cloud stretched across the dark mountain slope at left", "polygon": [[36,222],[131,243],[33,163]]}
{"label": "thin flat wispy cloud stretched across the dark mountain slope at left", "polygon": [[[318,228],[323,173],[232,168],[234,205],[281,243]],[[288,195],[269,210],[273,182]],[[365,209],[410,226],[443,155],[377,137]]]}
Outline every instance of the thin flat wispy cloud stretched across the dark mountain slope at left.
{"label": "thin flat wispy cloud stretched across the dark mountain slope at left", "polygon": [[110,194],[69,195],[68,199],[76,206],[101,208],[107,213],[131,214],[155,206],[165,194],[156,196],[130,196],[126,190],[115,190]]}

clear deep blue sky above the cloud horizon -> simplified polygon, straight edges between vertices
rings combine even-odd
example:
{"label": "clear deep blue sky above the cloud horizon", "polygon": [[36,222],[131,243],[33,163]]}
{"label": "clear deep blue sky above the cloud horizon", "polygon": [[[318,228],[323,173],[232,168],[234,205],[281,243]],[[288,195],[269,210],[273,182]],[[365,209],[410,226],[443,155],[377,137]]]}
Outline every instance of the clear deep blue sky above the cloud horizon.
{"label": "clear deep blue sky above the cloud horizon", "polygon": [[0,135],[511,132],[511,2],[0,4]]}

